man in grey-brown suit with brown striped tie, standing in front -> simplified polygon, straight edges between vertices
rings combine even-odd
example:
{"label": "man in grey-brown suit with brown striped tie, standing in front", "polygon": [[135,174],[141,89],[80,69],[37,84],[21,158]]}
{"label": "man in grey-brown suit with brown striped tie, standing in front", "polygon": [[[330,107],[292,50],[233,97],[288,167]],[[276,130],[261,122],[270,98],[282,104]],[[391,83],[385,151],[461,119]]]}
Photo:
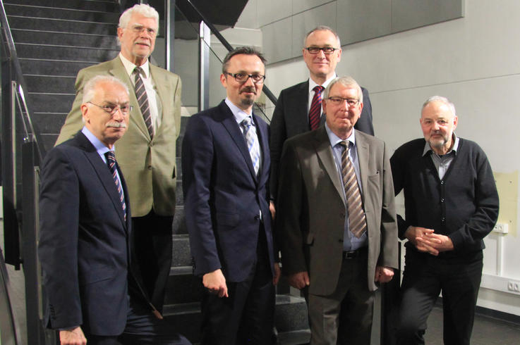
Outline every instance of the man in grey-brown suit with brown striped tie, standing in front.
{"label": "man in grey-brown suit with brown striped tie, standing in front", "polygon": [[355,80],[332,80],[325,126],[288,139],[280,161],[282,272],[306,295],[310,344],[370,344],[373,291],[397,268],[389,155],[353,129],[362,109]]}

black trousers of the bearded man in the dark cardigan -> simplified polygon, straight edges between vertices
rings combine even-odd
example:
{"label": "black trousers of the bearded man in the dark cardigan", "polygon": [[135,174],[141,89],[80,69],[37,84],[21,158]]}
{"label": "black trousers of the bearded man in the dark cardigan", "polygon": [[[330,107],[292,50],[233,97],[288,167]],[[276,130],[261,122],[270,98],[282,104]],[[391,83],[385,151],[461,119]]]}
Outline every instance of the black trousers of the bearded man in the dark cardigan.
{"label": "black trousers of the bearded man in the dark cardigan", "polygon": [[446,345],[469,345],[483,253],[452,260],[406,250],[397,344],[425,344],[426,320],[442,291]]}

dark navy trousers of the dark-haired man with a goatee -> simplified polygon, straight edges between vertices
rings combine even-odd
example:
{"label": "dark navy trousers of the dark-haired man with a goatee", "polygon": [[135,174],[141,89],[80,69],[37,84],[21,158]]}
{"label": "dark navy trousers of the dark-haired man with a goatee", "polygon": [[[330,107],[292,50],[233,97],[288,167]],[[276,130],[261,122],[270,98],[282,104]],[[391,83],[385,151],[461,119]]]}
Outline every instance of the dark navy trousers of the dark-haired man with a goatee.
{"label": "dark navy trousers of the dark-haired man with a goatee", "polygon": [[272,344],[275,296],[270,265],[260,225],[257,262],[247,279],[226,281],[227,298],[208,291],[202,296],[202,345]]}

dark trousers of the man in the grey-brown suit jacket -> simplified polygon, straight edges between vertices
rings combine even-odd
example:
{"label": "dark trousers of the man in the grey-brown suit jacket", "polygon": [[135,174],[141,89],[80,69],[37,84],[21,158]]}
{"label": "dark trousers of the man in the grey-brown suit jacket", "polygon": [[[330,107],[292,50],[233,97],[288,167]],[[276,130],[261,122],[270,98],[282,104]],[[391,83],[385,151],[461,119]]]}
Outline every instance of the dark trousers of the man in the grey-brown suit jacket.
{"label": "dark trousers of the man in the grey-brown suit jacket", "polygon": [[308,294],[310,345],[370,345],[374,293],[368,290],[368,251],[344,258],[334,293]]}

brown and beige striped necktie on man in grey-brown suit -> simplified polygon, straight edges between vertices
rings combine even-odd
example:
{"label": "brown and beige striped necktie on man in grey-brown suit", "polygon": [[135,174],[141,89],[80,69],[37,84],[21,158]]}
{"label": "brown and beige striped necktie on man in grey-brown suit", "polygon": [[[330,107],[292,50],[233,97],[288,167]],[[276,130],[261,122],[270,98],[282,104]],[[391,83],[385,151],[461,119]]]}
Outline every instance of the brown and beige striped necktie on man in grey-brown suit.
{"label": "brown and beige striped necktie on man in grey-brown suit", "polygon": [[344,147],[341,153],[341,175],[343,176],[343,186],[345,188],[346,207],[349,211],[349,230],[356,237],[361,237],[366,231],[366,218],[361,202],[356,170],[349,158],[348,141],[339,142]]}

